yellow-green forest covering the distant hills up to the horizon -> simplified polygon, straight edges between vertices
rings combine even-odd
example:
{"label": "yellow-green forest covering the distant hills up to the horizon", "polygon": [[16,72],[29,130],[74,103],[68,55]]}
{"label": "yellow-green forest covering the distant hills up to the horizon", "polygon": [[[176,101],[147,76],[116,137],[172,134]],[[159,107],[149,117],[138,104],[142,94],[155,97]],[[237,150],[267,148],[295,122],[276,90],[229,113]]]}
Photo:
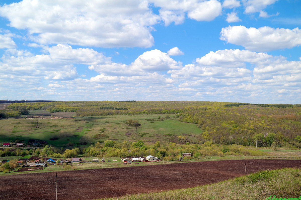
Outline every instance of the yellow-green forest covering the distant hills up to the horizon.
{"label": "yellow-green forest covering the distant hills up to the horizon", "polygon": [[[200,143],[301,148],[300,104],[249,104],[207,101],[69,101],[14,103],[11,111],[75,112],[76,116],[177,114],[203,130]],[[9,111],[9,110],[8,110]],[[8,112],[7,111],[7,112]]]}

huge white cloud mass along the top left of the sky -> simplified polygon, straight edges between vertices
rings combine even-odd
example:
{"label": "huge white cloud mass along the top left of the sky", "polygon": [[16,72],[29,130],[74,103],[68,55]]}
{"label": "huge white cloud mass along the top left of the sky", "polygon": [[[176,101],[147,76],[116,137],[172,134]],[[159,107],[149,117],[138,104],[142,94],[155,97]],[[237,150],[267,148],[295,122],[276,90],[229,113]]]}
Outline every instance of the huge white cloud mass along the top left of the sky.
{"label": "huge white cloud mass along the top left of the sky", "polygon": [[[160,7],[159,15],[153,13],[152,5]],[[166,26],[183,23],[186,15],[212,21],[221,12],[217,0],[24,0],[0,7],[0,16],[11,27],[27,29],[36,43],[108,48],[151,47],[153,26],[162,20]]]}

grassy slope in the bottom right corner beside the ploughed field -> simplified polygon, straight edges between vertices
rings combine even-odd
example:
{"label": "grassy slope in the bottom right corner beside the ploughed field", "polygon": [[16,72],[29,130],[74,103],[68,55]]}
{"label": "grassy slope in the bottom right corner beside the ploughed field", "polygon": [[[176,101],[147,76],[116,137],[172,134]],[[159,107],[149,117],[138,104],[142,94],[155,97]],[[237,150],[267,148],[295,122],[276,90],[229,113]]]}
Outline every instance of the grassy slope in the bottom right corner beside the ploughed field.
{"label": "grassy slope in the bottom right corner beside the ploughed field", "polygon": [[[264,200],[272,195],[293,198],[301,195],[301,170],[296,168],[260,171],[216,184],[160,193],[126,195],[105,200]],[[103,199],[98,199],[103,200]]]}

